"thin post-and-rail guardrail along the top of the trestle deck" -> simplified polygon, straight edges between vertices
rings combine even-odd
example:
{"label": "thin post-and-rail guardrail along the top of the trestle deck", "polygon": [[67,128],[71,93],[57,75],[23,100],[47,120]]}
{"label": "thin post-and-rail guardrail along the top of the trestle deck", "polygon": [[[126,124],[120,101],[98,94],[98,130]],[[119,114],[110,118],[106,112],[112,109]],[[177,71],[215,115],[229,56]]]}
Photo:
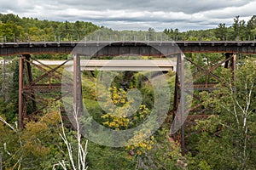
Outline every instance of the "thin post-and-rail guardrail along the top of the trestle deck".
{"label": "thin post-and-rail guardrail along the top of the trestle deck", "polygon": [[[218,42],[221,39],[216,37],[197,37],[198,42]],[[92,35],[84,35],[84,37],[73,37],[70,35],[66,36],[41,36],[41,37],[6,37],[0,36],[0,42],[114,42],[114,41],[143,41],[143,42],[168,42],[168,41],[175,41],[175,42],[189,42],[191,38],[188,37],[170,37],[163,32],[154,32],[153,35],[150,33],[143,33],[143,35],[138,34],[108,34],[102,32],[96,32]],[[254,39],[248,37],[248,42],[256,42],[256,37]],[[236,39],[225,39],[222,42],[242,42],[239,38]]]}

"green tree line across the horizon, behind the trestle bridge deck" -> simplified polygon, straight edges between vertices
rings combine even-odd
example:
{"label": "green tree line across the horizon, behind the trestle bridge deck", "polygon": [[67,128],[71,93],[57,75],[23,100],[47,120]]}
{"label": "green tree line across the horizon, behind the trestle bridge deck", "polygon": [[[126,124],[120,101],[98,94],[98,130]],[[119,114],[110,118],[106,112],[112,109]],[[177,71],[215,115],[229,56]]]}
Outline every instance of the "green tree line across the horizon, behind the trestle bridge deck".
{"label": "green tree line across the horizon, behind the trestle bridge deck", "polygon": [[[95,37],[86,37],[94,32]],[[253,41],[256,37],[256,15],[248,21],[234,18],[231,26],[219,23],[214,29],[179,31],[178,28],[166,28],[156,32],[148,31],[114,31],[104,26],[96,26],[85,21],[49,21],[37,18],[20,18],[15,14],[0,14],[0,41],[80,41],[88,40],[137,40],[137,41]]]}

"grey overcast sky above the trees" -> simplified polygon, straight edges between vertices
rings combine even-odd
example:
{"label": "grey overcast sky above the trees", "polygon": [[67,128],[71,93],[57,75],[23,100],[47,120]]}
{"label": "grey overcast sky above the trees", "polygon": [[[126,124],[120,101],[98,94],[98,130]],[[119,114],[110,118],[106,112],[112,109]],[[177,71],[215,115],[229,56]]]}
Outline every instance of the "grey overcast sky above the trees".
{"label": "grey overcast sky above the trees", "polygon": [[91,21],[117,30],[180,31],[230,26],[236,15],[249,20],[256,0],[0,0],[0,13],[39,20]]}

